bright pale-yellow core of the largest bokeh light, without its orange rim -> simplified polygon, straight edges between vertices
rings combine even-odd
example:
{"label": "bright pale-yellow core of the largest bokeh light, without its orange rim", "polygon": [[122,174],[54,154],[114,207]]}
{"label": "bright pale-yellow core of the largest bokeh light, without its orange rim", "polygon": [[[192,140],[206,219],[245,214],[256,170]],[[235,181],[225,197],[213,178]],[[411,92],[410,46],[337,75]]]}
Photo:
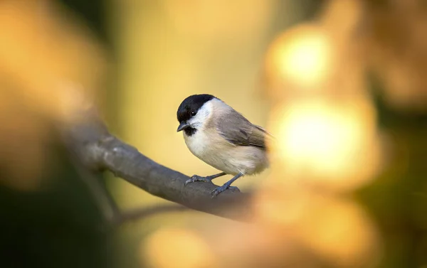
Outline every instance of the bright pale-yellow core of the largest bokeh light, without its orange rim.
{"label": "bright pale-yellow core of the largest bokeh light, without its orange rim", "polygon": [[[292,159],[320,161],[323,168],[333,168],[337,163],[331,164],[327,156],[342,156],[349,149],[348,145],[360,140],[361,131],[357,123],[344,118],[343,114],[335,114],[325,104],[302,104],[296,109],[291,108],[285,118],[282,146],[289,151]],[[334,157],[334,160],[343,161],[341,157]]]}

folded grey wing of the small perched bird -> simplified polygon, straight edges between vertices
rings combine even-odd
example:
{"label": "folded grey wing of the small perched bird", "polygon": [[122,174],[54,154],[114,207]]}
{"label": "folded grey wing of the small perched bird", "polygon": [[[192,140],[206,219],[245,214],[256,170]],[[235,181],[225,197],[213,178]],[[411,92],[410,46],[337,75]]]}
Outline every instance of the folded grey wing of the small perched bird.
{"label": "folded grey wing of the small perched bird", "polygon": [[265,129],[252,124],[235,110],[227,112],[225,117],[218,120],[216,129],[231,144],[261,149],[266,149],[266,139],[271,136]]}

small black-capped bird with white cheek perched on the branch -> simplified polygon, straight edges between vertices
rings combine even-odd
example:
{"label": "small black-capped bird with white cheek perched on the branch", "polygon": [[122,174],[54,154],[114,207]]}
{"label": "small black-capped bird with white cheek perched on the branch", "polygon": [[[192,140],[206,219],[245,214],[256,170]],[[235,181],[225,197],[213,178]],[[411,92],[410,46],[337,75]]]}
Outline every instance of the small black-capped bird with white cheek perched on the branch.
{"label": "small black-capped bird with white cheek perched on the branch", "polygon": [[177,132],[184,131],[184,141],[192,154],[223,171],[211,176],[191,176],[185,182],[209,182],[226,174],[233,175],[214,191],[214,198],[241,176],[262,172],[268,167],[267,143],[272,136],[262,127],[256,126],[228,106],[209,94],[191,95],[179,105],[176,117]]}

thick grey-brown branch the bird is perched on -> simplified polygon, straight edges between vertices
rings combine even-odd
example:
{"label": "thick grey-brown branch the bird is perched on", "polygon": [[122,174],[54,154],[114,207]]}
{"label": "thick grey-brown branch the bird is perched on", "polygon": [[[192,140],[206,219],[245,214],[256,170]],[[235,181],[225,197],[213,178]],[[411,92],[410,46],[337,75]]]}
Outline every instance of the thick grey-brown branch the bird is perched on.
{"label": "thick grey-brown branch the bird is perched on", "polygon": [[93,114],[65,129],[65,142],[83,166],[93,171],[111,171],[147,193],[194,210],[233,220],[252,218],[251,195],[227,190],[211,198],[213,183],[191,183],[178,171],[157,164],[135,147],[110,134]]}

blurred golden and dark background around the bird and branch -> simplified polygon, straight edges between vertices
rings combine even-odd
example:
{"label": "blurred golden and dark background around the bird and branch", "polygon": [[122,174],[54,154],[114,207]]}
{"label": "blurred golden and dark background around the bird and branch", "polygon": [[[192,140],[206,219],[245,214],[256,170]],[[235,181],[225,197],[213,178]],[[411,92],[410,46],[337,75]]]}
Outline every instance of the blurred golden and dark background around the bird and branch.
{"label": "blurred golden and dark background around the bird and branch", "polygon": [[[0,267],[427,267],[422,0],[0,1]],[[189,176],[176,133],[209,93],[277,137],[255,223],[194,211],[111,227],[58,125]],[[90,173],[121,210],[168,202]],[[221,185],[229,178],[218,178]],[[90,184],[90,183],[89,183]]]}

